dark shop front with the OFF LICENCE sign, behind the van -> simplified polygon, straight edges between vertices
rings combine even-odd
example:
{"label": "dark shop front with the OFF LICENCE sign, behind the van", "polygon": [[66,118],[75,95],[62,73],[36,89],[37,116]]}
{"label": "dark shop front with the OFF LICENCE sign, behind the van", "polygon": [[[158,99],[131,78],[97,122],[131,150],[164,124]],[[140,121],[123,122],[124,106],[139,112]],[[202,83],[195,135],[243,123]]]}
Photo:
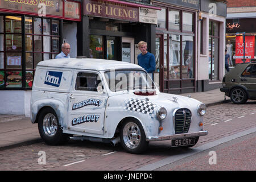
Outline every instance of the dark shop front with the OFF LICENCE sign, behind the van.
{"label": "dark shop front with the OFF LICENCE sign, behind the van", "polygon": [[159,7],[149,1],[83,1],[78,56],[137,64],[137,44],[148,43],[155,52],[155,24]]}

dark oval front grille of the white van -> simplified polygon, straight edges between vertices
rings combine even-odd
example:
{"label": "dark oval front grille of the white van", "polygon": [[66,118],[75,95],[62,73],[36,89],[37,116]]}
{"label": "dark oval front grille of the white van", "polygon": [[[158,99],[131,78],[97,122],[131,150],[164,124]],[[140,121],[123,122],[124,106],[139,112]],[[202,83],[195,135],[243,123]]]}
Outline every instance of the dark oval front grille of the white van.
{"label": "dark oval front grille of the white van", "polygon": [[178,109],[174,115],[175,134],[188,133],[191,123],[191,111],[182,108]]}

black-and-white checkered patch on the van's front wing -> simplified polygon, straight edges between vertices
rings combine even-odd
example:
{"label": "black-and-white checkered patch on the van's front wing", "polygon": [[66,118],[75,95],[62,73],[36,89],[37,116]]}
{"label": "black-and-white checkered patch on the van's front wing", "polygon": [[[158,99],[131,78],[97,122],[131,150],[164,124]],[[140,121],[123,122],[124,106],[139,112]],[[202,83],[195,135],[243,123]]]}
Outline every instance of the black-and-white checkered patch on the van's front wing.
{"label": "black-and-white checkered patch on the van's front wing", "polygon": [[130,98],[126,104],[126,109],[143,114],[152,114],[156,105],[147,100],[138,100]]}

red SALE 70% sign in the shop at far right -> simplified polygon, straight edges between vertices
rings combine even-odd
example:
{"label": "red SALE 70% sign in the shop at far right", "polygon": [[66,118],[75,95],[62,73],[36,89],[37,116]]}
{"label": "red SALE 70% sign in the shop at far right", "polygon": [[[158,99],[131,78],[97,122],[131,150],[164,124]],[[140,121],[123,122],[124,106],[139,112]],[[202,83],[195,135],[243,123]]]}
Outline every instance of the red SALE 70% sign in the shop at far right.
{"label": "red SALE 70% sign in the shop at far right", "polygon": [[[245,46],[245,56],[254,58],[254,47],[255,39],[254,36],[245,36],[245,45],[243,45],[243,36],[236,37],[236,64],[243,63],[243,47]],[[250,59],[246,59],[246,62],[249,62]]]}

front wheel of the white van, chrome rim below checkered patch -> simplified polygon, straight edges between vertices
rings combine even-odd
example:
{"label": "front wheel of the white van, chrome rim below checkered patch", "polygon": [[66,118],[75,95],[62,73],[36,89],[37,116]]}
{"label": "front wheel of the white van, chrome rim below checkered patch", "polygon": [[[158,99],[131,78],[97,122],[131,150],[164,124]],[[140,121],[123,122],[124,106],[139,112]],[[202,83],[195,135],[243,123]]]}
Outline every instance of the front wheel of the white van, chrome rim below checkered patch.
{"label": "front wheel of the white van, chrome rim below checkered patch", "polygon": [[122,124],[120,139],[122,147],[132,154],[139,154],[148,146],[143,127],[136,120],[129,120]]}

